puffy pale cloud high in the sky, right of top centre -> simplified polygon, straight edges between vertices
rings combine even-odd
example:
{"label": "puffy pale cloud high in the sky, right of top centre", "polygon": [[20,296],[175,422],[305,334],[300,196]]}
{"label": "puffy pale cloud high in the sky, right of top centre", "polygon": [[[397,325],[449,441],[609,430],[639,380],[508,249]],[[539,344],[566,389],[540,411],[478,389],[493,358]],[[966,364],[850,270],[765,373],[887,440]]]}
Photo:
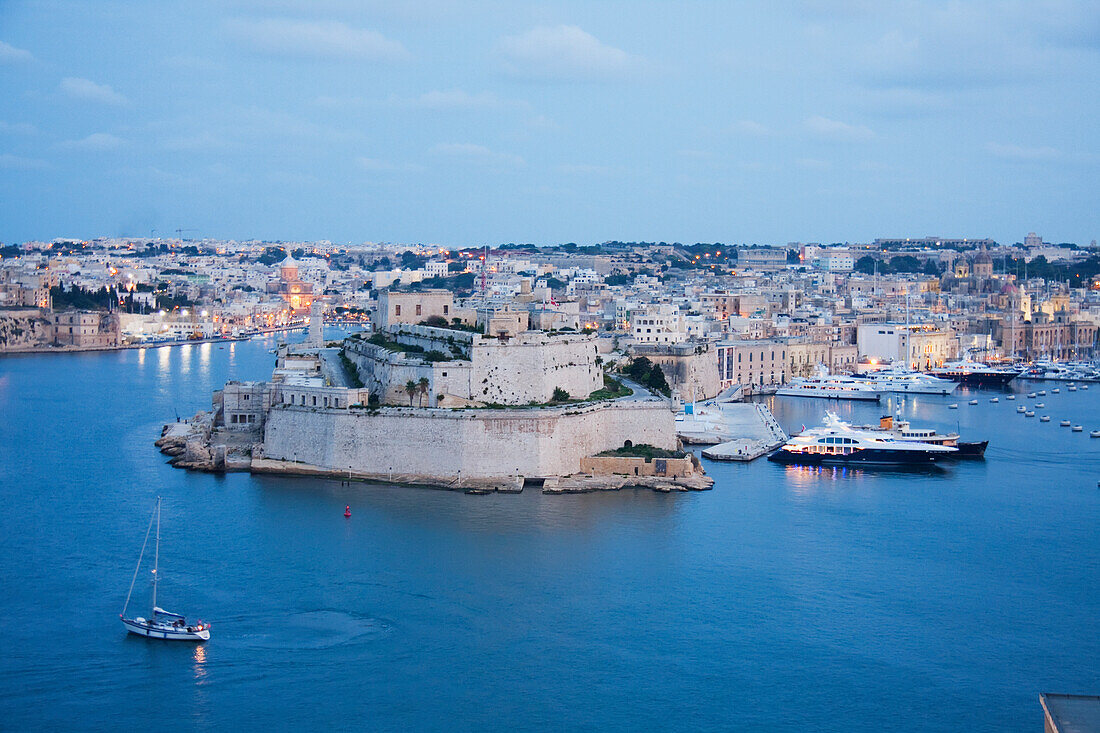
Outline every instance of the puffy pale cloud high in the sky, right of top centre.
{"label": "puffy pale cloud high in the sky, right of top centre", "polygon": [[641,59],[601,43],[575,25],[540,26],[499,43],[508,74],[536,79],[609,80],[638,70]]}

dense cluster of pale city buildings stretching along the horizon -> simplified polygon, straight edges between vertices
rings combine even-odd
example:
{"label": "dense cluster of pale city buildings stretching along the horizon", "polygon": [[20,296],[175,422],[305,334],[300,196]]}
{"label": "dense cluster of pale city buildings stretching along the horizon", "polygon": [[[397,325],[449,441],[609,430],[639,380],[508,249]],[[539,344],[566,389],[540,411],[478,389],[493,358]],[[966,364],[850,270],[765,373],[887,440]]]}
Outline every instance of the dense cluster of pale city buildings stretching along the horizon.
{"label": "dense cluster of pale city buildings stretching along the horizon", "polygon": [[[1100,325],[1096,243],[1052,245],[1034,233],[1011,245],[927,237],[450,250],[105,239],[0,252],[0,349],[241,337],[300,327],[316,299],[329,320],[385,332],[593,333],[601,361],[644,355],[683,398],[767,389],[817,364],[1090,359]],[[425,352],[451,353],[420,340]],[[364,341],[353,355],[397,359],[376,346]],[[420,371],[443,383],[438,361]],[[449,390],[472,400],[474,386]]]}

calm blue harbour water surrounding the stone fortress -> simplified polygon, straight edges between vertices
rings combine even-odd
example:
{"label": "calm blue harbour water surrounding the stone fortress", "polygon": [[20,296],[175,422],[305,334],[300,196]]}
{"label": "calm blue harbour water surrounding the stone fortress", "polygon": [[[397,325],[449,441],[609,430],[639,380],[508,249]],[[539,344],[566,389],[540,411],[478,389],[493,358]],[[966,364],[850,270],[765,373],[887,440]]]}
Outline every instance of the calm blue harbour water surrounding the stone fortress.
{"label": "calm blue harbour water surrounding the stone fortress", "polygon": [[[273,347],[0,360],[0,729],[1038,730],[1041,691],[1100,691],[1100,385],[1047,424],[1003,393],[898,405],[985,462],[707,463],[704,493],[166,466],[162,424]],[[118,621],[156,495],[160,601],[213,622],[201,646]]]}

